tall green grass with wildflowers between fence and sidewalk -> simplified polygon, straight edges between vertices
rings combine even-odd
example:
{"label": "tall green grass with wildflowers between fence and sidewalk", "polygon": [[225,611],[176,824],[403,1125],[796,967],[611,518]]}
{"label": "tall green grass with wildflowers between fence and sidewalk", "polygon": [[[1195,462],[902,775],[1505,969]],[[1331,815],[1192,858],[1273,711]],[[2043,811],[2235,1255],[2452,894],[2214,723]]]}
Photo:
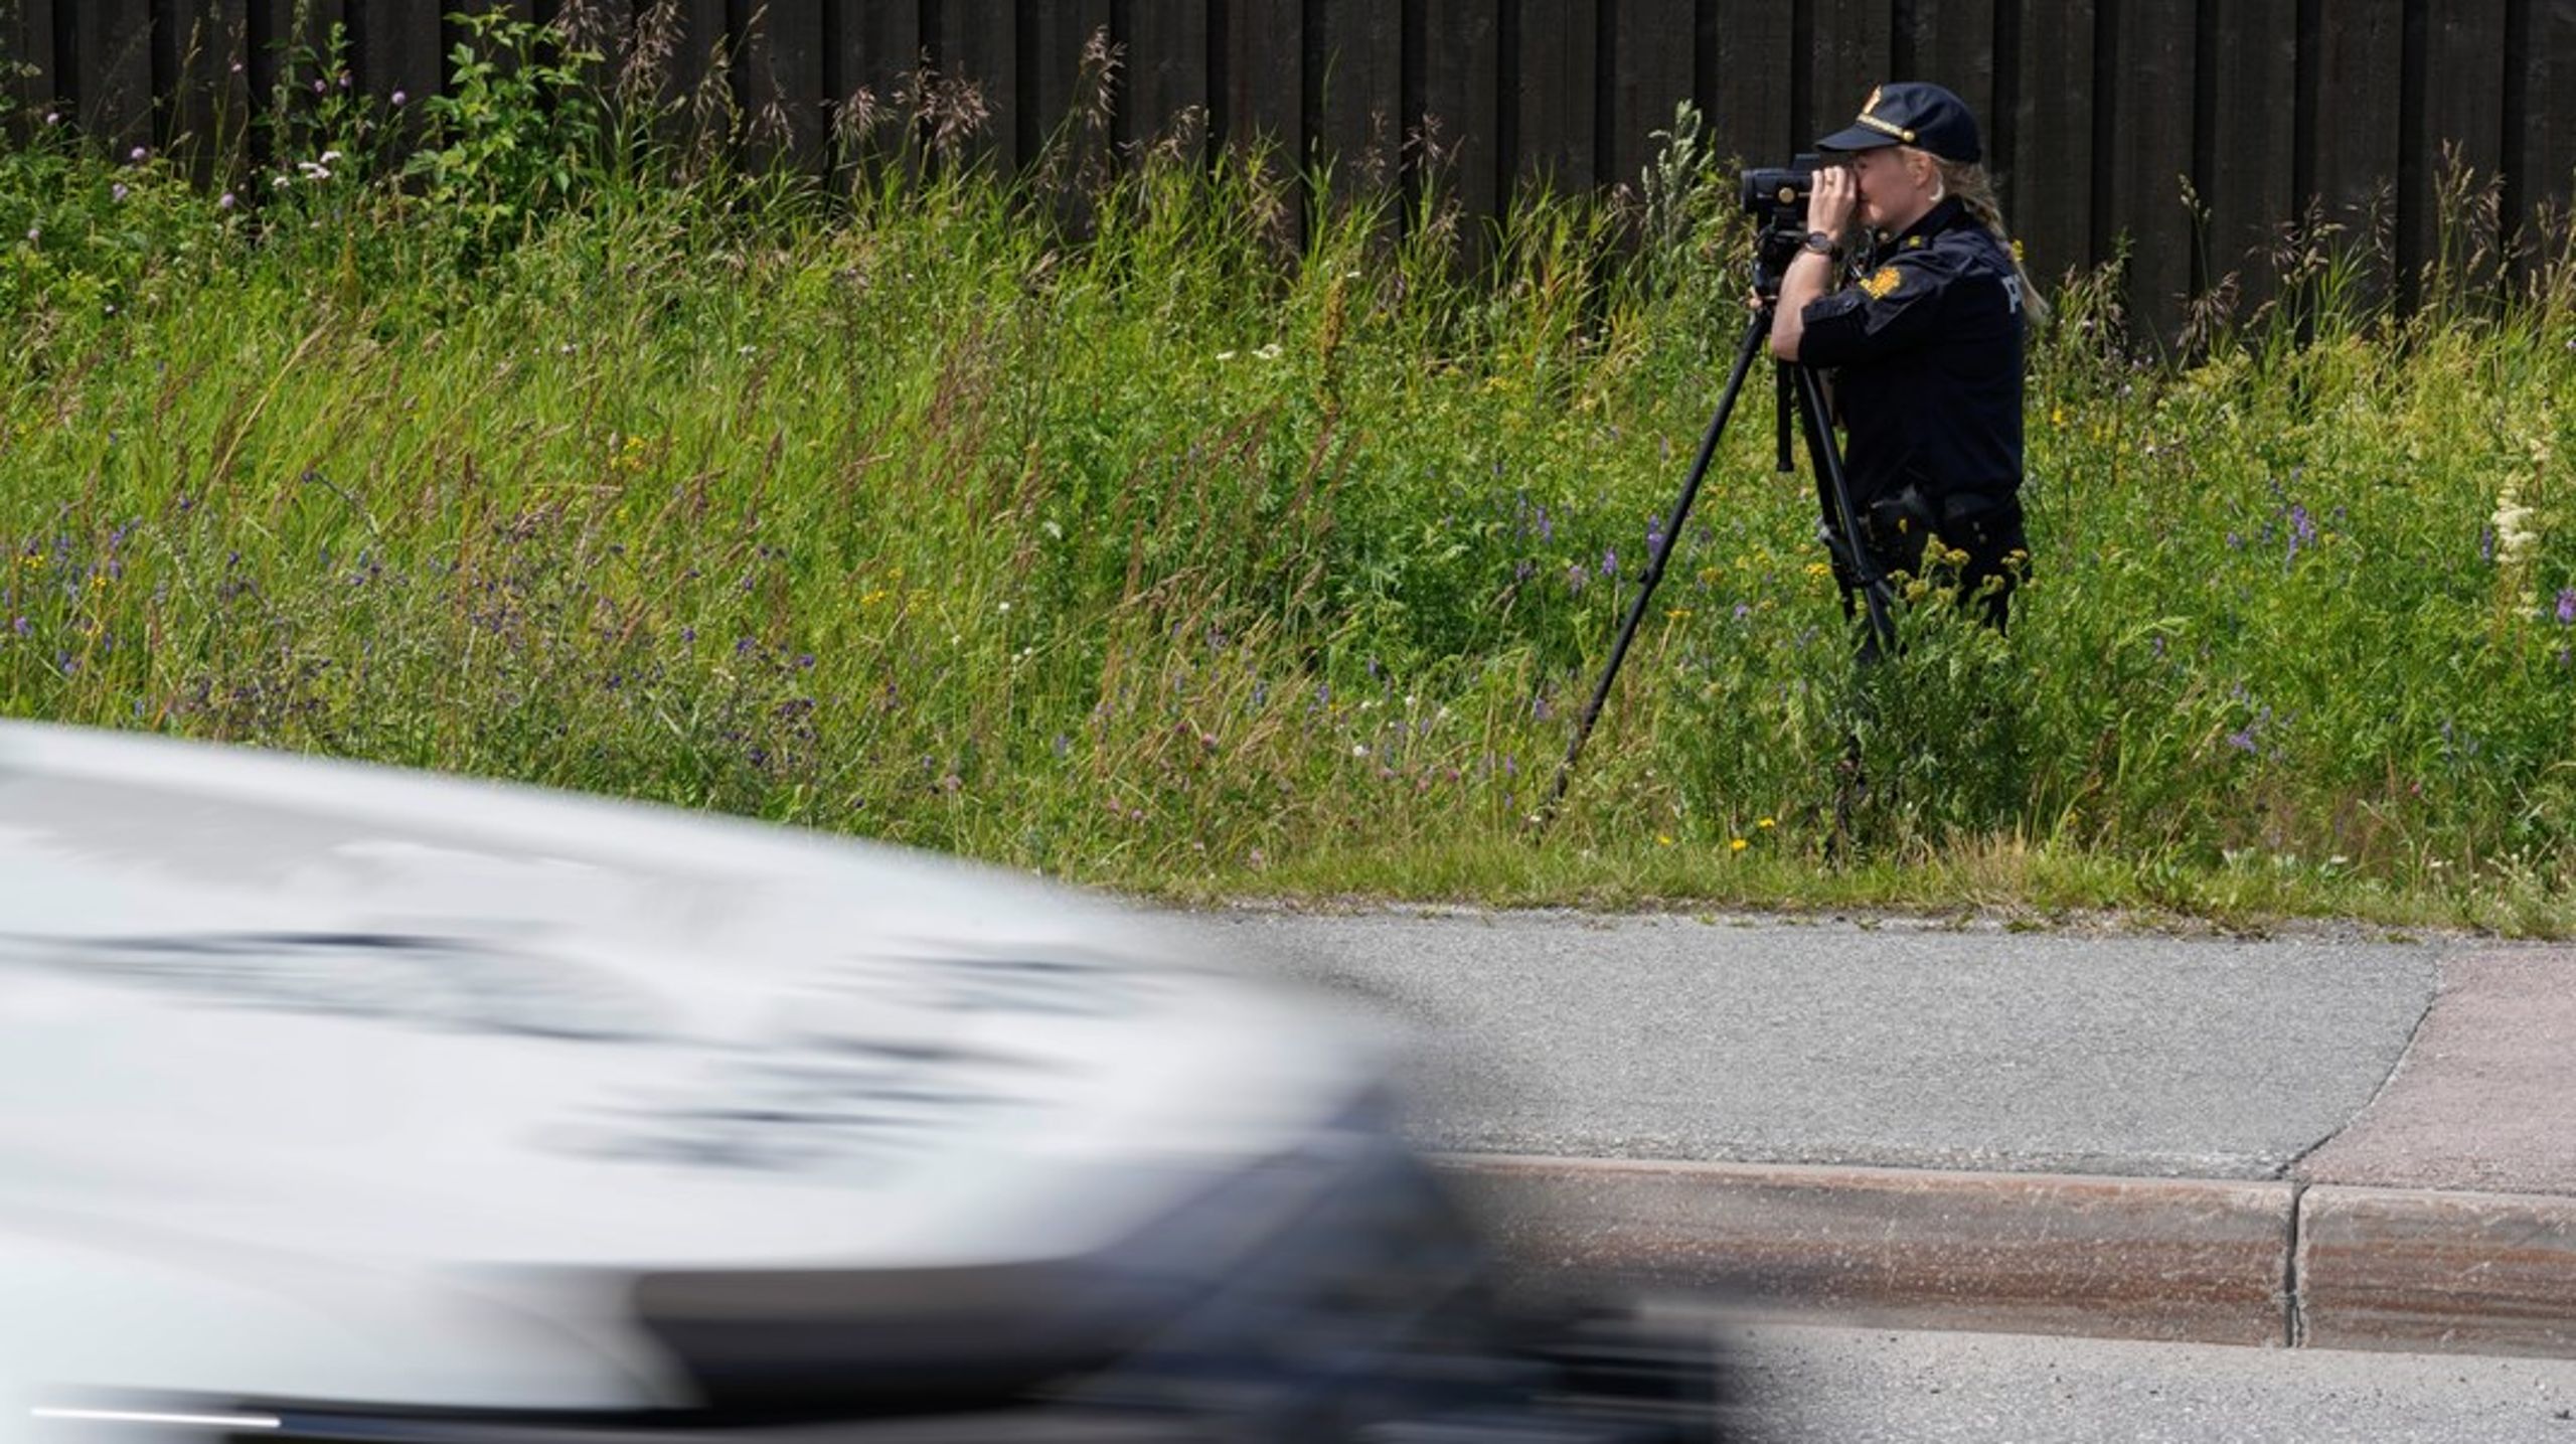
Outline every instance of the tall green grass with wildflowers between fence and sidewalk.
{"label": "tall green grass with wildflowers between fence and sidewalk", "polygon": [[600,54],[229,201],[5,118],[13,716],[1177,896],[2571,916],[2563,237],[2396,319],[2311,229],[2174,366],[2076,278],[2009,641],[1922,595],[1865,674],[1757,386],[1538,824],[1741,329],[1687,118],[1476,234],[1082,113],[1007,180],[938,77],[744,172]]}

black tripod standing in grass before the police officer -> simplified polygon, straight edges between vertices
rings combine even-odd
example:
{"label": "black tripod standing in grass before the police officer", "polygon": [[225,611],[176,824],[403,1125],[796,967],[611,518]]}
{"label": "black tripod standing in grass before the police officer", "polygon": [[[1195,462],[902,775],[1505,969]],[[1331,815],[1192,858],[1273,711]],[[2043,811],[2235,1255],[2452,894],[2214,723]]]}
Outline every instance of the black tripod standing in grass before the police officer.
{"label": "black tripod standing in grass before the police officer", "polygon": [[[1664,564],[1672,559],[1672,548],[1682,541],[1682,520],[1690,517],[1690,502],[1698,499],[1700,481],[1708,476],[1708,461],[1718,453],[1718,438],[1726,435],[1726,420],[1736,409],[1736,396],[1744,394],[1744,376],[1752,373],[1754,355],[1770,345],[1772,311],[1780,306],[1777,270],[1757,265],[1754,286],[1762,304],[1754,309],[1752,319],[1744,322],[1744,342],[1736,345],[1736,363],[1726,373],[1726,391],[1718,394],[1718,412],[1708,420],[1708,435],[1700,438],[1700,456],[1690,463],[1682,494],[1672,502],[1672,517],[1664,523],[1662,543],[1656,543],[1654,556],[1646,559],[1646,574],[1638,579],[1636,602],[1628,605],[1628,620],[1620,623],[1618,641],[1610,643],[1610,664],[1602,667],[1602,680],[1592,687],[1592,700],[1584,703],[1584,716],[1574,723],[1574,739],[1566,744],[1566,759],[1556,764],[1556,788],[1548,793],[1548,813],[1553,813],[1556,803],[1566,798],[1566,782],[1574,780],[1574,757],[1582,754],[1584,739],[1592,736],[1592,723],[1602,716],[1602,705],[1610,700],[1610,682],[1618,680],[1618,667],[1628,659],[1636,628],[1646,620],[1646,602],[1654,597],[1654,587],[1664,579]],[[1824,399],[1824,378],[1816,376],[1814,366],[1788,360],[1772,360],[1772,371],[1777,381],[1775,414],[1780,432],[1780,471],[1788,474],[1793,468],[1788,432],[1790,417],[1795,414],[1795,425],[1806,432],[1808,463],[1816,468],[1816,507],[1821,512],[1816,538],[1824,541],[1826,553],[1834,559],[1834,577],[1842,582],[1844,613],[1852,610],[1852,595],[1857,592],[1860,610],[1865,610],[1870,620],[1870,633],[1862,638],[1862,656],[1891,654],[1896,651],[1893,592],[1860,535],[1860,515],[1852,510],[1852,489],[1842,474],[1842,450],[1834,445],[1834,412]]]}

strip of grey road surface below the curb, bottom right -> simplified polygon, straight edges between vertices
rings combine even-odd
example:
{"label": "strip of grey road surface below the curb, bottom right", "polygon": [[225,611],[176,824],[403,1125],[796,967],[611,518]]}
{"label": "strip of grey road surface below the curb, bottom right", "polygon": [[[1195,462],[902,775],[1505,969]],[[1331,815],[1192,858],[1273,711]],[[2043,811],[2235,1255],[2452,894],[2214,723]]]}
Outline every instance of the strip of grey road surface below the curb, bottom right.
{"label": "strip of grey road surface below the curb, bottom right", "polygon": [[1728,1328],[1757,1444],[2576,1444],[2576,1359]]}

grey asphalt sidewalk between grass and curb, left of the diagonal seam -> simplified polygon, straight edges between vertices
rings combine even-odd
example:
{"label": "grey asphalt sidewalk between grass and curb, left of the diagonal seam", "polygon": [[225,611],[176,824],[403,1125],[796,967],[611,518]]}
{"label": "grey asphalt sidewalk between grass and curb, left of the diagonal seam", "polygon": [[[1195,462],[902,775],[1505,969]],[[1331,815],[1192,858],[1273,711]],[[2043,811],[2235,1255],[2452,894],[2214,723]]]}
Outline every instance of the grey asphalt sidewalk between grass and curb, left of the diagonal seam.
{"label": "grey asphalt sidewalk between grass and curb, left of the diagonal seam", "polygon": [[1432,1148],[2202,1179],[2282,1176],[2344,1127],[2439,955],[1687,916],[1182,927],[1414,1019]]}

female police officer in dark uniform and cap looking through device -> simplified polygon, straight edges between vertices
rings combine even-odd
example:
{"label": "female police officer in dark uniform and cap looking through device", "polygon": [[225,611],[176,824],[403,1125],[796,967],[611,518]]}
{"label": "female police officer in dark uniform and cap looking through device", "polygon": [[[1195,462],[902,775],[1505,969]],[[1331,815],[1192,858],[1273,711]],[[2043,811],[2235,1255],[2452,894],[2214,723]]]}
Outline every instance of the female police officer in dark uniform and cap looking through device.
{"label": "female police officer in dark uniform and cap looking through device", "polygon": [[[1816,149],[1842,165],[1816,172],[1772,355],[1834,368],[1844,471],[1878,566],[1922,577],[1937,535],[1965,553],[1963,605],[2002,631],[2030,561],[2022,332],[2045,311],[2004,234],[1976,116],[1940,85],[1891,82]],[[1857,278],[1834,288],[1847,234]]]}

